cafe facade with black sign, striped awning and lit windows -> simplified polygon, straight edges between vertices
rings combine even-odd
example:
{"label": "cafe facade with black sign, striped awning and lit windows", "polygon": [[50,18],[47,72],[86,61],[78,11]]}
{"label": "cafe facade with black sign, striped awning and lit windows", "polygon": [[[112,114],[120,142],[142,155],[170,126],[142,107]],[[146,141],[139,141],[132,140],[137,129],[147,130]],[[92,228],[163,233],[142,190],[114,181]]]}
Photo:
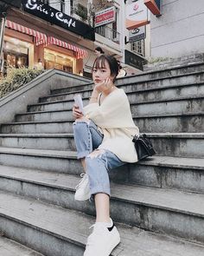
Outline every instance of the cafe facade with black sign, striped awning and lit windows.
{"label": "cafe facade with black sign, striped awning and lit windows", "polygon": [[4,67],[61,69],[82,75],[94,39],[88,24],[41,1],[22,0],[22,8],[10,9],[6,19]]}

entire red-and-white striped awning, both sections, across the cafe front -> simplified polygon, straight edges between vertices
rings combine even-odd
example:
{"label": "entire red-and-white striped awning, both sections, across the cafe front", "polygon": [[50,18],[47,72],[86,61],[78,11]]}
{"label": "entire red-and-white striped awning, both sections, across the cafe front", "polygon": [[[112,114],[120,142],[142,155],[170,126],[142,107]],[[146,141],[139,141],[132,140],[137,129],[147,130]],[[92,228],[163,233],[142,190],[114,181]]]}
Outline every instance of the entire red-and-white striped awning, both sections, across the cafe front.
{"label": "entire red-and-white striped awning, both sections, across the cafe front", "polygon": [[27,34],[29,36],[34,36],[36,45],[54,44],[54,45],[58,45],[60,47],[66,48],[66,49],[71,49],[75,52],[77,59],[85,58],[88,54],[85,49],[81,49],[80,47],[74,46],[71,43],[66,43],[64,41],[61,41],[61,40],[55,38],[54,36],[46,36],[45,34],[43,34],[41,32],[38,32],[36,30],[31,30],[27,27],[20,25],[20,24],[10,22],[9,20],[6,21],[6,27],[8,29],[16,30],[21,33]]}

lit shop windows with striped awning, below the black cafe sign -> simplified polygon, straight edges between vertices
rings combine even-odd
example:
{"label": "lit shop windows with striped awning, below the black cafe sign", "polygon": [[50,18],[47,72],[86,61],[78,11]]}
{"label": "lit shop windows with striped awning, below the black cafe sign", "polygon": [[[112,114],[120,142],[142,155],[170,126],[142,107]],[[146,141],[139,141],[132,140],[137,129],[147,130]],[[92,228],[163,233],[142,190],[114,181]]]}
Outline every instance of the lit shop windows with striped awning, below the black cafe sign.
{"label": "lit shop windows with striped awning, below the black cafe sign", "polygon": [[80,74],[87,51],[7,20],[3,43],[4,70],[12,66],[61,69]]}

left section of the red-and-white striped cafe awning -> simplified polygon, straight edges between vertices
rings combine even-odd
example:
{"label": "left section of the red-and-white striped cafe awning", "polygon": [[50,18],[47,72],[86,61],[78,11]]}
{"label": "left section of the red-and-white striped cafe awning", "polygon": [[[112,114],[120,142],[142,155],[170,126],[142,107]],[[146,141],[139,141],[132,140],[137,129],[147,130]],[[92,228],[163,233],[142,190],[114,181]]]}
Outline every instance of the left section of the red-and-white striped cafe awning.
{"label": "left section of the red-and-white striped cafe awning", "polygon": [[46,36],[45,34],[38,32],[36,30],[31,30],[27,27],[20,25],[20,24],[10,22],[9,20],[6,21],[6,27],[10,30],[16,30],[23,34],[27,34],[29,36],[34,36],[36,45],[40,45],[41,43],[46,43],[48,40],[48,36]]}

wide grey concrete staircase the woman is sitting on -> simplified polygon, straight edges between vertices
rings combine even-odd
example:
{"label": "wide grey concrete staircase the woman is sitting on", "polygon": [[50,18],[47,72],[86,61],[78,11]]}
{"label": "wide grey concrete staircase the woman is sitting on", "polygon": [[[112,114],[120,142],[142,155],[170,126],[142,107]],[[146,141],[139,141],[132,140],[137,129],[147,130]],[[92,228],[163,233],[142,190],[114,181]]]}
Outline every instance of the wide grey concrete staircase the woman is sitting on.
{"label": "wide grey concrete staircase the woman is sitting on", "polygon": [[[121,78],[118,88],[157,154],[111,173],[112,219],[122,238],[112,256],[203,256],[204,62]],[[48,256],[83,255],[94,206],[73,199],[82,167],[71,109],[73,95],[80,92],[86,104],[91,89],[90,83],[55,84],[27,113],[1,125],[4,242],[7,237]],[[0,255],[7,256],[1,240]],[[32,253],[15,255],[40,255]]]}

